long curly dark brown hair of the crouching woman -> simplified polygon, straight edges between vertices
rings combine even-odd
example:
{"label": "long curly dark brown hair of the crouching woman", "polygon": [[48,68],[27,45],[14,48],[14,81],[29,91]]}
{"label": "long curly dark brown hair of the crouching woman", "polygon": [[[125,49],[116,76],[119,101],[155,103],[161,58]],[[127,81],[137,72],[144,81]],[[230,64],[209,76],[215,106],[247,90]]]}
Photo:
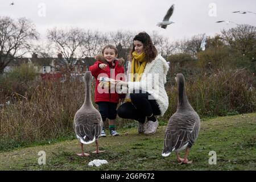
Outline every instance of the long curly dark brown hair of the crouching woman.
{"label": "long curly dark brown hair of the crouching woman", "polygon": [[[135,35],[133,38],[134,40],[139,40],[139,42],[143,43],[143,52],[145,53],[146,61],[151,62],[155,59],[155,57],[158,55],[158,51],[156,50],[155,46],[152,43],[152,40],[150,38],[150,35],[148,35],[146,32],[140,32],[138,35]],[[129,60],[133,59],[133,52],[135,51],[134,45],[133,49],[131,49],[129,53]]]}

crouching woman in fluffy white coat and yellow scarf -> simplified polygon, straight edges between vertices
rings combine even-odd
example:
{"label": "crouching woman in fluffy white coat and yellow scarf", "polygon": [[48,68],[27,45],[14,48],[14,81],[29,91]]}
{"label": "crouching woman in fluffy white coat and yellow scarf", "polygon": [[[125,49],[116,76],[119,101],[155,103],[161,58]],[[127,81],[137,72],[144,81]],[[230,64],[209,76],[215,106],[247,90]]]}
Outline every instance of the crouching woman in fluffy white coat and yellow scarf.
{"label": "crouching woman in fluffy white coat and yellow scarf", "polygon": [[133,39],[127,67],[127,82],[115,84],[127,88],[126,102],[119,106],[121,118],[139,122],[138,133],[154,134],[159,123],[155,115],[163,115],[168,108],[168,96],[164,89],[169,65],[156,51],[150,36],[141,32]]}

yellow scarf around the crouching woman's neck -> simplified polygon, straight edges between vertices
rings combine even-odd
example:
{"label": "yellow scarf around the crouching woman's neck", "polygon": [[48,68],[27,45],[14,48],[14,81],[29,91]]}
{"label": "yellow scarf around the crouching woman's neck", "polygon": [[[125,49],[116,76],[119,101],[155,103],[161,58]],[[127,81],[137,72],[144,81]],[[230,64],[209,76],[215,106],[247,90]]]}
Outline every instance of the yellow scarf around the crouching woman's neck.
{"label": "yellow scarf around the crouching woman's neck", "polygon": [[[136,51],[133,52],[133,60],[131,60],[131,81],[141,81],[142,74],[146,67],[147,61],[145,60],[145,53],[140,55]],[[137,73],[137,74],[136,74]],[[135,77],[134,77],[134,74]],[[126,98],[126,102],[131,102],[130,98]]]}

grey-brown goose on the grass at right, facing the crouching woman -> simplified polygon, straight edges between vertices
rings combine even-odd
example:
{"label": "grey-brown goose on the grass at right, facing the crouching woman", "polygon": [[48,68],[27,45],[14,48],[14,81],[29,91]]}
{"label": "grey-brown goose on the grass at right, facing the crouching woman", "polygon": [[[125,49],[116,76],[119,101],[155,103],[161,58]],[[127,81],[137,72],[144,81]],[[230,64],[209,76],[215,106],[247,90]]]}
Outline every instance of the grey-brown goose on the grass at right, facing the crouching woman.
{"label": "grey-brown goose on the grass at right, facing the crouching woman", "polygon": [[[192,163],[192,161],[188,161],[188,154],[199,135],[200,118],[188,102],[184,76],[178,73],[175,80],[179,95],[177,110],[168,122],[164,135],[162,156],[168,156],[171,152],[176,152],[178,162],[180,164],[187,164]],[[179,155],[179,152],[182,150],[186,150],[184,159],[181,159]]]}

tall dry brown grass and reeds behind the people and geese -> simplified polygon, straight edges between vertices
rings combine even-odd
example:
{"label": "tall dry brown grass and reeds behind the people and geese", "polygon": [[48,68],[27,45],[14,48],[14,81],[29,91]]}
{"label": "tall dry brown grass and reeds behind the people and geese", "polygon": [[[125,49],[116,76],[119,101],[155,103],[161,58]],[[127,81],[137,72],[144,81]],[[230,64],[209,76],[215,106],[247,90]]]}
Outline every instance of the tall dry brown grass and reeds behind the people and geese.
{"label": "tall dry brown grass and reeds behind the people and geese", "polygon": [[[13,79],[12,74],[26,82]],[[71,77],[65,82],[32,80],[33,74],[28,76],[26,69],[12,74],[0,77],[0,152],[73,136],[73,117],[84,102],[85,85]],[[187,76],[188,100],[201,118],[253,113],[256,90],[251,87],[254,78],[248,74],[245,69],[227,69]],[[10,88],[7,83],[11,83]],[[93,82],[92,90],[94,85]],[[176,84],[168,83],[166,90],[169,106],[159,118],[161,126],[166,125],[177,105]],[[98,109],[95,103],[94,106]],[[121,118],[116,121],[119,128],[133,127],[134,123],[130,122]]]}

